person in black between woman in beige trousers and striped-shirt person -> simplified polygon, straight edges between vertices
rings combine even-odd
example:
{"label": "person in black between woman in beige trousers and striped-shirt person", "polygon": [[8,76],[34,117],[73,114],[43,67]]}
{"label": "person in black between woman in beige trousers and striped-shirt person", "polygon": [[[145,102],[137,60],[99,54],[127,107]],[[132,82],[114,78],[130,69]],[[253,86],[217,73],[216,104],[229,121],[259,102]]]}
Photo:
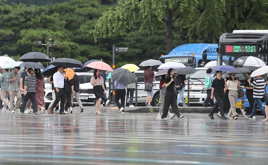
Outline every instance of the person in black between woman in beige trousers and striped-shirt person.
{"label": "person in black between woman in beige trousers and striped-shirt person", "polygon": [[[249,74],[249,77],[251,76],[251,73]],[[254,78],[250,77],[250,83],[253,83],[254,81]],[[251,87],[249,82],[248,82],[248,79],[247,81],[245,82],[245,85],[244,85],[245,89],[246,89],[246,96],[247,96],[247,99],[249,101],[249,104],[250,106],[247,107],[245,110],[241,110],[241,112],[243,113],[244,116],[246,116],[246,111],[249,111],[250,113],[252,113],[253,111],[253,104],[254,104],[254,98],[253,98],[253,89],[254,87]]]}

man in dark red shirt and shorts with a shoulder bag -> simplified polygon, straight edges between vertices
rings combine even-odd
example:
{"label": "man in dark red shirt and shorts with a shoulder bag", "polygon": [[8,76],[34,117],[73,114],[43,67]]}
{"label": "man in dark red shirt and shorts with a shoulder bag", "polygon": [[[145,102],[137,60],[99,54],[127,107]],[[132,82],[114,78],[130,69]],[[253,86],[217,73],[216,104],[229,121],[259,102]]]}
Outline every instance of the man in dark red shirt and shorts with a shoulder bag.
{"label": "man in dark red shirt and shorts with a shoulder bag", "polygon": [[[144,84],[145,83],[152,84],[154,78],[155,77],[154,77],[154,72],[152,71],[152,66],[147,66],[147,69],[144,70]],[[151,92],[147,92],[145,106],[152,107],[151,106],[152,96],[153,96],[153,85],[152,85],[152,91]]]}

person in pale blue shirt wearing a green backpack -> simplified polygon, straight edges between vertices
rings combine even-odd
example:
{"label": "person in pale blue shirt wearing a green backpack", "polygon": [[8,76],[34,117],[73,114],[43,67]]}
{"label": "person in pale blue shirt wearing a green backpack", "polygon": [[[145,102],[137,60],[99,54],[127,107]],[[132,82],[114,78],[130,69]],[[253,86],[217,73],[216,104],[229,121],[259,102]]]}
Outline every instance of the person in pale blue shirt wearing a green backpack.
{"label": "person in pale blue shirt wearing a green backpack", "polygon": [[212,75],[212,69],[208,68],[206,69],[206,76],[205,76],[205,81],[204,81],[204,89],[206,90],[206,98],[205,101],[203,103],[204,107],[208,107],[208,104],[210,104],[211,107],[214,107],[214,103],[213,100],[210,99],[211,96],[211,84],[214,80],[214,77]]}

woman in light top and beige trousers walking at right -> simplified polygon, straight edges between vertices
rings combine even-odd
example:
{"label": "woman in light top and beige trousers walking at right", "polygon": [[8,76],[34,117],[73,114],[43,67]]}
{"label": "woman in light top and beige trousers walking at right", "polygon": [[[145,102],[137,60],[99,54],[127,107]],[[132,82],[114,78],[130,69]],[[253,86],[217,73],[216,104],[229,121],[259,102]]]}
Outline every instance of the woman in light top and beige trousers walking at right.
{"label": "woman in light top and beige trousers walking at right", "polygon": [[228,89],[229,89],[229,101],[231,104],[230,110],[228,112],[228,118],[233,119],[231,115],[234,116],[234,119],[238,119],[238,114],[235,111],[235,103],[237,102],[238,99],[238,93],[237,90],[240,87],[240,82],[235,78],[235,74],[230,74],[229,80],[226,82]]}

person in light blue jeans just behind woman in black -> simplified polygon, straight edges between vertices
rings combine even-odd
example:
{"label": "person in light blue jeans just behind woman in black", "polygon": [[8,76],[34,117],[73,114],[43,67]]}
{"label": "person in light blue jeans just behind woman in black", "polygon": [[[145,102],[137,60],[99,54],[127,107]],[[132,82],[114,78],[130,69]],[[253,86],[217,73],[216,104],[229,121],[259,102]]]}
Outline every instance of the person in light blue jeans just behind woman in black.
{"label": "person in light blue jeans just behind woman in black", "polygon": [[187,107],[185,100],[184,100],[184,91],[185,91],[185,83],[186,83],[186,76],[182,74],[178,74],[176,77],[176,86],[179,86],[179,88],[175,88],[178,90],[179,96],[177,99],[177,105],[179,106],[180,101],[182,100],[183,107]]}

